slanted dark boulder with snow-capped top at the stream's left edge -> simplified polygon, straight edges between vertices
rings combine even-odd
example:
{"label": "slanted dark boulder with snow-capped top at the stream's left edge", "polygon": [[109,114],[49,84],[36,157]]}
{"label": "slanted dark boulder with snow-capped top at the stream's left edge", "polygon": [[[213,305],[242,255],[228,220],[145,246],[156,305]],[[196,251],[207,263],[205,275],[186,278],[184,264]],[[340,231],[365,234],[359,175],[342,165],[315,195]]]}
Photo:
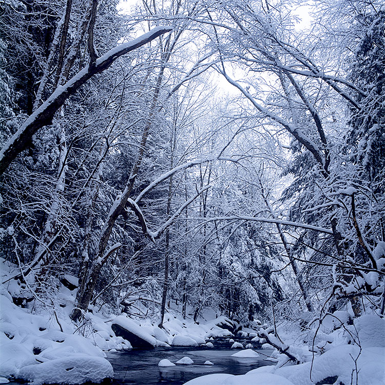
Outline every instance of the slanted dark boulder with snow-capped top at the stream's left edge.
{"label": "slanted dark boulder with snow-capped top at the stream's left edge", "polygon": [[121,336],[129,341],[132,348],[152,349],[157,344],[157,340],[140,325],[124,316],[115,318],[112,321],[111,329],[115,335]]}

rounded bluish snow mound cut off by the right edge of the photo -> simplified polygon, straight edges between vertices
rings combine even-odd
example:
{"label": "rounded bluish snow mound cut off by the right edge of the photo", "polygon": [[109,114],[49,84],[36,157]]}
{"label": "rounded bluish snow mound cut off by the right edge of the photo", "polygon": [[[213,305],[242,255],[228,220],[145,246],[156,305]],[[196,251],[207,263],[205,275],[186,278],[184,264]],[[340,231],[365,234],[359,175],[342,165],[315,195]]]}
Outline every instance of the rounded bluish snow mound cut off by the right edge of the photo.
{"label": "rounded bluish snow mound cut off by the right edge of the photo", "polygon": [[354,320],[362,348],[385,346],[385,319],[365,314]]}

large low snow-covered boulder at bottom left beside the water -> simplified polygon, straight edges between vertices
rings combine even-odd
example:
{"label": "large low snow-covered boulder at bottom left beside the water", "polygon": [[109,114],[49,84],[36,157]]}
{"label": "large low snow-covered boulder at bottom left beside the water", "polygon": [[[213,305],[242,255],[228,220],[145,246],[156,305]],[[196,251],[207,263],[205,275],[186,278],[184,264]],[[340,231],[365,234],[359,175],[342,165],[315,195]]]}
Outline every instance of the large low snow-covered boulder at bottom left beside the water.
{"label": "large low snow-covered boulder at bottom left beside the water", "polygon": [[112,376],[112,366],[106,359],[78,356],[28,365],[20,369],[17,378],[28,381],[32,385],[41,385],[43,383],[100,383]]}

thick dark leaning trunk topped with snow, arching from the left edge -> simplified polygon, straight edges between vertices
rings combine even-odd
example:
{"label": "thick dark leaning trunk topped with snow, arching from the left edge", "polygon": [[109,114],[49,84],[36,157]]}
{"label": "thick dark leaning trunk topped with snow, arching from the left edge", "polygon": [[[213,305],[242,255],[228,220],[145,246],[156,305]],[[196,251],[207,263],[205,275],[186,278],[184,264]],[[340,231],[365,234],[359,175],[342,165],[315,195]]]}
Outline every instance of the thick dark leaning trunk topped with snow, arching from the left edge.
{"label": "thick dark leaning trunk topped with snow, arching from the left edge", "polygon": [[55,112],[79,87],[85,84],[87,80],[92,78],[93,75],[109,68],[118,57],[149,43],[158,36],[171,30],[171,27],[159,26],[131,42],[123,43],[118,47],[112,48],[103,56],[99,57],[94,65],[87,65],[66,84],[57,86],[51,96],[30,115],[0,150],[0,174],[7,169],[20,152],[30,146],[33,134],[38,129],[50,124]]}

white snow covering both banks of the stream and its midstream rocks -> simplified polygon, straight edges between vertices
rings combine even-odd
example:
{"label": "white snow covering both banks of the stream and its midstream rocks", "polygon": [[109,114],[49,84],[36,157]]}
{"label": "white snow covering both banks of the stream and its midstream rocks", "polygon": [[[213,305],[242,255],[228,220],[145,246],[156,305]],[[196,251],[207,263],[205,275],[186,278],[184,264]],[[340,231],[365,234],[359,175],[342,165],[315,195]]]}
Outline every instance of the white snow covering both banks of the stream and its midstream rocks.
{"label": "white snow covering both banks of the stream and its midstream rocks", "polygon": [[[0,272],[2,282],[6,282],[17,270],[0,260]],[[59,284],[51,303],[43,305],[35,300],[22,308],[12,302],[12,296],[22,296],[23,290],[26,288],[15,280],[0,286],[0,382],[18,378],[34,385],[76,384],[101,382],[112,377],[113,370],[104,352],[131,348],[128,341],[112,331],[111,324],[117,320],[158,346],[206,344],[205,347],[210,348],[210,338],[232,336],[228,330],[217,326],[220,322],[226,323],[226,317],[195,324],[167,313],[161,330],[156,325],[157,320],[136,320],[124,315],[117,318],[117,315],[102,314],[94,308],[93,314],[88,313],[77,325],[69,318],[75,291]],[[187,384],[312,385],[326,383],[322,382],[325,378],[333,381],[329,383],[343,385],[385,384],[385,320],[373,314],[356,318],[354,324],[349,324],[349,320],[349,312],[336,312],[326,316],[318,327],[314,322],[306,332],[297,326],[281,325],[278,334],[284,342],[273,337],[271,342],[298,357],[300,364],[287,362],[287,357],[275,350],[272,354],[277,361],[275,366],[261,367],[240,376],[210,374]],[[261,341],[253,330],[244,329],[241,334]],[[234,348],[240,349],[233,354],[235,357],[257,355],[244,349],[242,344],[235,344]],[[165,360],[160,362],[161,366],[171,364]]]}

